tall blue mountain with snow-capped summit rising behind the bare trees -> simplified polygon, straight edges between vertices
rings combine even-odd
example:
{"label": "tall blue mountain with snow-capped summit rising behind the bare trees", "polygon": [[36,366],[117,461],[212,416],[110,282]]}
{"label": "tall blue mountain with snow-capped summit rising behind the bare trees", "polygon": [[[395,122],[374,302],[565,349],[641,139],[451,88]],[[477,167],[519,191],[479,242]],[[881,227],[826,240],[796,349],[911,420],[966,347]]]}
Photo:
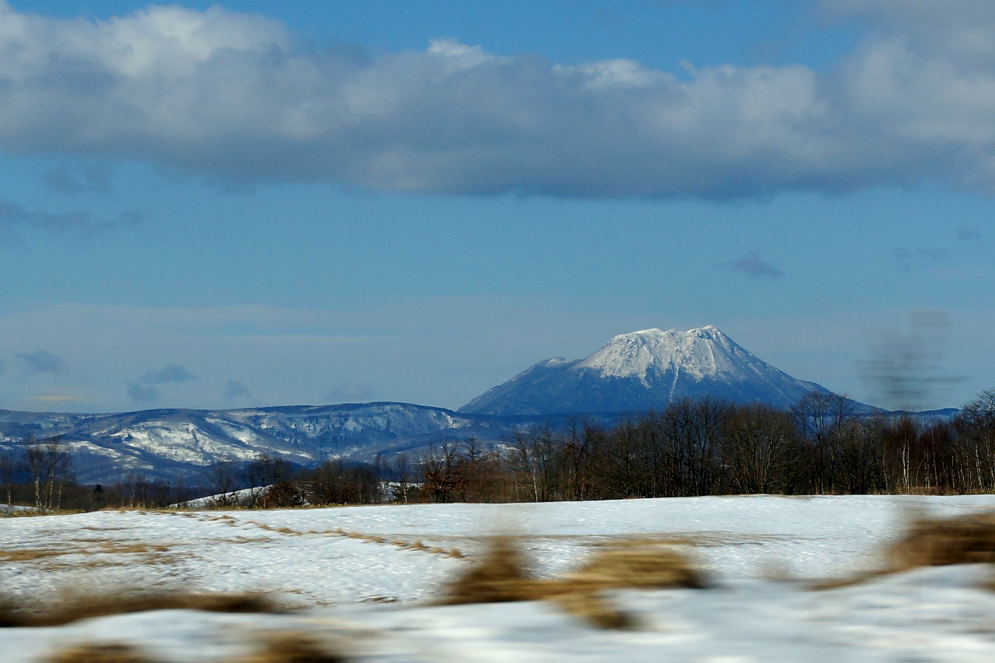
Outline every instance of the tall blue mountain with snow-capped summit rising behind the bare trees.
{"label": "tall blue mountain with snow-capped summit rising behind the bare trees", "polygon": [[547,359],[477,397],[462,414],[645,411],[675,400],[794,404],[812,382],[761,361],[715,327],[621,334],[587,359]]}

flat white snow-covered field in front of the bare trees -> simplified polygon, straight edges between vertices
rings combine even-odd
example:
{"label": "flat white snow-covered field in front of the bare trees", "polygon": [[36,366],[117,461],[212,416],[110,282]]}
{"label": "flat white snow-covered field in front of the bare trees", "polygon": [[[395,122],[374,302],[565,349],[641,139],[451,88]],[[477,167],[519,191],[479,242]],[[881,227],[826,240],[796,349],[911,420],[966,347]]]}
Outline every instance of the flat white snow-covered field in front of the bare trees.
{"label": "flat white snow-covered field in front of the bare trees", "polygon": [[[0,661],[81,641],[132,643],[163,662],[245,655],[268,631],[339,638],[376,661],[995,660],[988,570],[927,569],[838,589],[801,581],[873,565],[910,510],[995,508],[995,496],[704,497],[528,505],[389,505],[287,511],[100,512],[0,521],[8,595],[115,587],[265,590],[287,615],[166,611],[0,629]],[[521,537],[534,571],[592,544],[692,546],[712,587],[613,596],[635,630],[601,630],[547,602],[431,606],[494,534]],[[772,578],[780,580],[771,580]]]}

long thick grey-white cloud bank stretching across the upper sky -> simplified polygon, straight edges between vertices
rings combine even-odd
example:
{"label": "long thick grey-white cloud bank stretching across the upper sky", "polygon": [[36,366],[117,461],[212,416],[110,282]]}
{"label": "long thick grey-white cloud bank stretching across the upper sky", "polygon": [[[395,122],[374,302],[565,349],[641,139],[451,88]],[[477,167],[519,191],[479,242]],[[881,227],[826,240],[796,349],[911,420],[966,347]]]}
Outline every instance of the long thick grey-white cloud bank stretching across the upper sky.
{"label": "long thick grey-white cloud bank stretching across the upper sky", "polygon": [[377,57],[316,50],[220,8],[92,22],[0,4],[0,149],[402,192],[995,192],[995,12],[826,7],[883,26],[831,74],[725,66],[682,80],[628,60],[560,66],[454,41]]}

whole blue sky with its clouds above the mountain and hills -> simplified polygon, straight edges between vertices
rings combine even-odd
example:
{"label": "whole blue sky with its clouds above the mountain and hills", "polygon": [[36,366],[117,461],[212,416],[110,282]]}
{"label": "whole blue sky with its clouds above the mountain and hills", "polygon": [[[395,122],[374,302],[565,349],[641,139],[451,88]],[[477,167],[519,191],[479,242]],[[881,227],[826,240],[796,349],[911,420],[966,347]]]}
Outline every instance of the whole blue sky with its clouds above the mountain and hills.
{"label": "whole blue sky with its clouds above the mountain and hills", "polygon": [[705,324],[896,406],[862,366],[922,311],[959,405],[991,44],[973,0],[10,2],[0,407],[458,408]]}

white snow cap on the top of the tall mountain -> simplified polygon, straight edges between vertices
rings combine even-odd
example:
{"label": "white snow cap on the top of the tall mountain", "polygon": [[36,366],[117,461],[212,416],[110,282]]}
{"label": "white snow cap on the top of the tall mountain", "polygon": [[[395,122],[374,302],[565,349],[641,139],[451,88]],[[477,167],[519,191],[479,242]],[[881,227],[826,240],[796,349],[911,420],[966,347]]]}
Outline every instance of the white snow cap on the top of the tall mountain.
{"label": "white snow cap on the top of the tall mountain", "polygon": [[620,334],[581,361],[578,369],[593,369],[602,376],[635,376],[649,386],[652,369],[674,371],[694,379],[733,379],[755,371],[759,359],[733,343],[713,325],[681,331],[643,329]]}

